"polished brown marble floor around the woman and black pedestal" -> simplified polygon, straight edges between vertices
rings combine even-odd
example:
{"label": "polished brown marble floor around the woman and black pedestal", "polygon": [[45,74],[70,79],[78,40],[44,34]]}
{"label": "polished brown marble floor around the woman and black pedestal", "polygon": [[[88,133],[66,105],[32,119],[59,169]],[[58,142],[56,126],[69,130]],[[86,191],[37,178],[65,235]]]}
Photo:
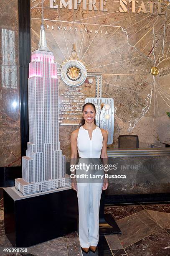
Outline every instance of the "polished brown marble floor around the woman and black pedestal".
{"label": "polished brown marble floor around the woman and black pedestal", "polygon": [[[101,236],[97,251],[81,251],[77,232],[28,247],[35,256],[170,256],[170,204],[105,207],[122,234]],[[3,198],[0,197],[0,247],[13,247],[4,232]],[[23,254],[0,254],[23,255]]]}

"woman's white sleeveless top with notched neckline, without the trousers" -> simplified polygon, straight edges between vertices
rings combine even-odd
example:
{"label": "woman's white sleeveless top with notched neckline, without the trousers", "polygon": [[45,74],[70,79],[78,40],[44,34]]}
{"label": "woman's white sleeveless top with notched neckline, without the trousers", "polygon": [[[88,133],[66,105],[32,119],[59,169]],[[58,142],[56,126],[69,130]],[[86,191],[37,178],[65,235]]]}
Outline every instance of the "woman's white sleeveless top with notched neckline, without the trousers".
{"label": "woman's white sleeveless top with notched neckline, without the trousers", "polygon": [[91,139],[89,132],[81,126],[77,137],[77,148],[81,158],[100,158],[103,147],[103,135],[98,126],[92,131]]}

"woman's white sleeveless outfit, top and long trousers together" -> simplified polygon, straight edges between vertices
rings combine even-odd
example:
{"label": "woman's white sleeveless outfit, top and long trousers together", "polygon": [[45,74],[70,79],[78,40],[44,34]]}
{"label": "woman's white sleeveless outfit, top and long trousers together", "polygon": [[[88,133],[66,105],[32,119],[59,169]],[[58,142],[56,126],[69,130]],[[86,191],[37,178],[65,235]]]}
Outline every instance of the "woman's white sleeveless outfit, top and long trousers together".
{"label": "woman's white sleeveless outfit, top and long trousers together", "polygon": [[[77,137],[80,158],[100,159],[103,136],[98,126],[89,133],[81,126]],[[97,246],[99,241],[99,206],[103,182],[77,183],[79,202],[79,241],[81,247]]]}

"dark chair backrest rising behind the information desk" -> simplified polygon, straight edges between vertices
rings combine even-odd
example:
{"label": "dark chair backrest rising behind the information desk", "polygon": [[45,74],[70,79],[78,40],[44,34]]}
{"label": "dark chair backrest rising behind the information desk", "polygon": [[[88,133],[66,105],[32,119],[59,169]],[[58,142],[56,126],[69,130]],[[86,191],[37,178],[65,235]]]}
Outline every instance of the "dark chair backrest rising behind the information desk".
{"label": "dark chair backrest rising behind the information desk", "polygon": [[118,148],[139,148],[137,135],[119,135]]}

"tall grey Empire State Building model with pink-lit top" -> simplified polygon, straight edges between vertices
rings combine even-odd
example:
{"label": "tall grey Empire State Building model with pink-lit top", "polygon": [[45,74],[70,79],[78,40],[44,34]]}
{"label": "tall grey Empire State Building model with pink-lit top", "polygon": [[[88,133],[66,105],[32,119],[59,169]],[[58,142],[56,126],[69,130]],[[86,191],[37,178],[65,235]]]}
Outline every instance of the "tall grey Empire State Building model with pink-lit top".
{"label": "tall grey Empire State Building model with pink-lit top", "polygon": [[43,18],[38,50],[29,63],[28,114],[30,142],[22,157],[23,177],[15,179],[15,188],[27,195],[70,186],[58,138],[57,64],[46,45]]}

